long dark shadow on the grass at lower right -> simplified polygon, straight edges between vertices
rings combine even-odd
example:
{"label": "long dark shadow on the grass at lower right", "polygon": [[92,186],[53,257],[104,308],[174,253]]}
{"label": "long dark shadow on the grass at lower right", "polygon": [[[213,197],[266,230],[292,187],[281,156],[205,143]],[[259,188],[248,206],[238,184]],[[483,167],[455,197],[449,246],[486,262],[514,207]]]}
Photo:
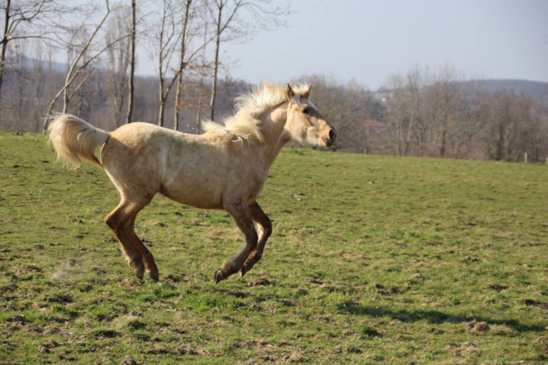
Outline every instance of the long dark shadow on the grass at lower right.
{"label": "long dark shadow on the grass at lower right", "polygon": [[439,325],[441,323],[466,323],[466,322],[485,322],[489,325],[506,325],[512,327],[518,332],[543,332],[545,325],[525,325],[519,320],[495,320],[482,316],[464,316],[462,314],[447,314],[437,310],[390,310],[382,307],[368,307],[366,305],[357,305],[355,303],[345,303],[337,306],[340,312],[356,314],[358,316],[370,317],[390,317],[401,322],[418,322],[426,320],[428,323]]}

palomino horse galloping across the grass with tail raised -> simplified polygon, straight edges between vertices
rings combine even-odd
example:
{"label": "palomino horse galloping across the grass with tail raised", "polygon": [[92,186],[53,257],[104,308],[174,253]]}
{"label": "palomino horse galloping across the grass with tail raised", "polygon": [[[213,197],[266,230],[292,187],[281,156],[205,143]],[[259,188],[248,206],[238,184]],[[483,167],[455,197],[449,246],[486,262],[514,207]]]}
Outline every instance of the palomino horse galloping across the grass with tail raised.
{"label": "palomino horse galloping across the grass with tail raised", "polygon": [[225,209],[245,234],[246,244],[216,270],[217,284],[238,271],[245,275],[261,258],[272,224],[256,199],[284,144],[296,140],[329,147],[335,141],[336,130],[308,101],[310,88],[294,91],[289,85],[265,83],[236,99],[236,114],[225,125],[205,122],[201,135],[149,123],[107,132],[62,114],[51,122],[49,138],[58,160],[73,168],[82,164],[81,158],[90,160],[119,190],[121,201],[105,223],[141,280],[145,270],[158,280],[158,268],[135,234],[135,218],[157,192],[193,207]]}

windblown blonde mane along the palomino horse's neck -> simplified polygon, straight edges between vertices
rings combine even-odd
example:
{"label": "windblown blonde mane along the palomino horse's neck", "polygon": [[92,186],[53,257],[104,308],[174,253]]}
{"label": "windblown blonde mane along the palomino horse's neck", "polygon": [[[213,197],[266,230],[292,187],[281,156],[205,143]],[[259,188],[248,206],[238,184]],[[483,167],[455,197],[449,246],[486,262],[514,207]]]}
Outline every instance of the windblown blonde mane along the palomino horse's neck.
{"label": "windblown blonde mane along the palomino horse's neck", "polygon": [[[293,88],[295,95],[300,96],[308,86],[299,85]],[[219,135],[243,142],[246,140],[252,144],[262,144],[264,136],[261,131],[260,114],[285,101],[288,101],[286,89],[279,84],[264,83],[251,92],[240,95],[236,101],[236,114],[223,121],[224,125],[213,121],[202,121],[204,131],[214,131]]]}

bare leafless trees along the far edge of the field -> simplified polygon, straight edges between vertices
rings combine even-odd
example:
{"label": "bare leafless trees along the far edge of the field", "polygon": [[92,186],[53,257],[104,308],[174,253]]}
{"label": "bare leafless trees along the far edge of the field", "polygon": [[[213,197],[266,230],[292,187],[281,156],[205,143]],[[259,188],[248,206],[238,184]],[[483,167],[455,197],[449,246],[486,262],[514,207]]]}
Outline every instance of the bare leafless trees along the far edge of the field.
{"label": "bare leafless trees along the far edge of the field", "polygon": [[[0,129],[41,132],[57,111],[108,130],[149,121],[200,133],[201,119],[232,113],[234,97],[252,86],[229,76],[223,44],[278,27],[288,14],[268,0],[126,2],[3,0]],[[135,75],[136,49],[147,50],[155,76]],[[493,92],[449,65],[390,75],[376,92],[323,75],[288,81],[314,85],[314,103],[338,129],[339,151],[548,158],[545,99]]]}

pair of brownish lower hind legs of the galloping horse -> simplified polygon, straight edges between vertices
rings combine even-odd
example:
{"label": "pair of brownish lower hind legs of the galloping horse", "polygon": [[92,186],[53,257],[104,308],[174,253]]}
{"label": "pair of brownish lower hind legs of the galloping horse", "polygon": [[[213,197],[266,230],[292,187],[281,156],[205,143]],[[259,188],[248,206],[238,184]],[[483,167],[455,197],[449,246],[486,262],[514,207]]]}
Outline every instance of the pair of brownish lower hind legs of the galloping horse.
{"label": "pair of brownish lower hind legs of the galloping horse", "polygon": [[105,218],[121,244],[127,264],[134,269],[136,277],[143,279],[145,270],[153,280],[158,280],[158,268],[150,251],[142,244],[134,231],[135,218],[151,199],[122,199],[120,204]]}

